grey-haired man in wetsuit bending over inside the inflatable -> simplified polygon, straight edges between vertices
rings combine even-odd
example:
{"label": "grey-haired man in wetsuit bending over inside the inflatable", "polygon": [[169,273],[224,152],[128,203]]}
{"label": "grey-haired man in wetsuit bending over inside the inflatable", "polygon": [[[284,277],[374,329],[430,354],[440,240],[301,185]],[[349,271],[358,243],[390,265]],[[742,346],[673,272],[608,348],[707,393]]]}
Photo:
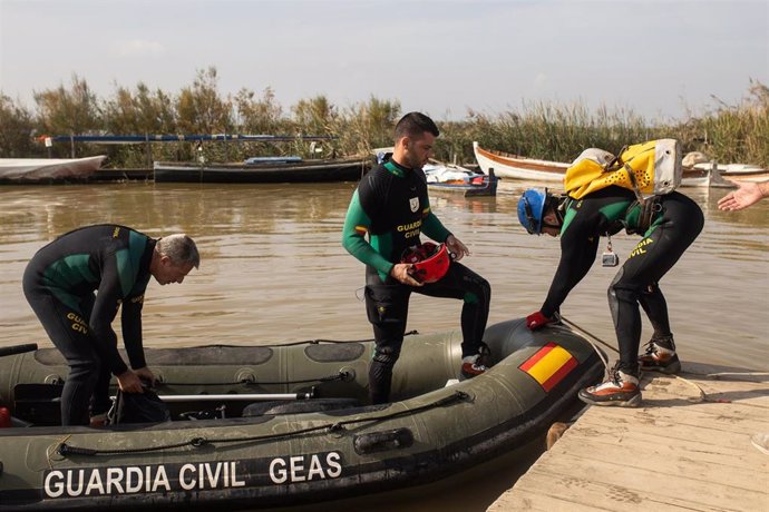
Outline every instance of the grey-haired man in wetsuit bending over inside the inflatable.
{"label": "grey-haired man in wetsuit bending over inside the inflatable", "polygon": [[[69,365],[61,393],[61,424],[104,423],[109,410],[110,372],[126,393],[142,393],[154,381],[142,344],[142,306],[149,276],[160,285],[182,283],[201,257],[186,235],[153,239],[116,225],[69,232],[35,254],[23,289],[53,345]],[[123,308],[123,341],[129,370],[111,328]]]}

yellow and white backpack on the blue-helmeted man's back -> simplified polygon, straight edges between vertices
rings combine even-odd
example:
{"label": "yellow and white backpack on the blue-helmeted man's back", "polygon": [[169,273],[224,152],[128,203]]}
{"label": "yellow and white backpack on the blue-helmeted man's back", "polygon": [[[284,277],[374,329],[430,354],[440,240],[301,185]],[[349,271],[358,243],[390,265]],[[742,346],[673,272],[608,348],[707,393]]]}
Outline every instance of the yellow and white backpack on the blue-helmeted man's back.
{"label": "yellow and white backpack on the blue-helmeted man's back", "polygon": [[681,185],[681,145],[675,139],[627,146],[619,157],[603,149],[582,151],[566,169],[564,189],[570,197],[616,185],[635,191],[639,199],[669,194]]}

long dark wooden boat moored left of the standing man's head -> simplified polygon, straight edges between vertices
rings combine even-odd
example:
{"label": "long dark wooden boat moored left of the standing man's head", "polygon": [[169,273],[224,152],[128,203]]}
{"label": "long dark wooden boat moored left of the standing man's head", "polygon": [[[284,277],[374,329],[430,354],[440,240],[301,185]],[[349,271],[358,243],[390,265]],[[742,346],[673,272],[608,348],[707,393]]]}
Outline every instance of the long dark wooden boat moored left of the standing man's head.
{"label": "long dark wooden boat moored left of the standing man's head", "polygon": [[329,183],[357,181],[368,158],[303,160],[299,157],[249,158],[241,164],[154,163],[156,183]]}

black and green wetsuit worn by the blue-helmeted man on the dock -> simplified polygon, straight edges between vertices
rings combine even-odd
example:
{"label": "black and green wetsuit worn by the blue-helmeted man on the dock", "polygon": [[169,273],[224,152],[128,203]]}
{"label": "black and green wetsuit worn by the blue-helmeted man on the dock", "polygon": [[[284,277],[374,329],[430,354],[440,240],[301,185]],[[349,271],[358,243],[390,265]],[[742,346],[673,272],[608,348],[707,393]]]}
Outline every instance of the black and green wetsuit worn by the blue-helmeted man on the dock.
{"label": "black and green wetsuit worn by the blue-helmeted man on the dock", "polygon": [[[595,262],[598,239],[622,228],[637,232],[640,207],[629,209],[633,191],[611,186],[581,200],[568,199],[561,229],[561,263],[551,284],[542,313],[558,312],[568,293]],[[658,282],[679,260],[702,230],[700,207],[673,191],[659,196],[660,209],[643,238],[631,252],[609,287],[609,305],[620,345],[620,370],[637,372],[641,341],[639,304],[649,315],[655,336],[670,335],[668,305]]]}

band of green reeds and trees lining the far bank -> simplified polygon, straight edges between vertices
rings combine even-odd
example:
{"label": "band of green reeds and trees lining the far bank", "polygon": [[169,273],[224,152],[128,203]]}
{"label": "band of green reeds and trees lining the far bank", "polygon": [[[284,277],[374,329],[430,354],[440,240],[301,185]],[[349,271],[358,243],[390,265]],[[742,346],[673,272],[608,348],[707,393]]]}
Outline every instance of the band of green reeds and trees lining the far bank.
{"label": "band of green reeds and trees lining the far bank", "polygon": [[[718,100],[717,100],[718,101]],[[35,93],[36,111],[0,91],[0,157],[45,157],[43,135],[155,135],[155,134],[265,134],[322,135],[337,139],[322,144],[321,155],[362,155],[392,145],[392,128],[403,114],[398,100],[370,97],[349,107],[332,105],[325,96],[302,99],[288,111],[272,89],[261,96],[243,88],[236,95],[218,90],[215,68],[199,70],[193,83],[178,93],[150,90],[139,82],[134,90],[116,87],[110,98],[98,98],[85,79],[74,76]],[[429,114],[429,112],[427,112]],[[671,137],[684,151],[702,151],[721,163],[769,167],[769,88],[752,81],[739,105],[718,101],[712,112],[689,115],[684,121],[651,122],[631,110],[583,105],[524,102],[517,111],[488,115],[470,110],[460,121],[436,119],[441,137],[436,157],[473,163],[473,141],[530,158],[571,161],[587,147],[617,152],[622,146]],[[145,145],[55,145],[50,155],[69,157],[107,154],[110,167],[145,167]],[[301,155],[311,145],[210,142],[199,148],[208,161],[239,161],[251,156]],[[156,160],[194,160],[192,142],[155,144]],[[318,154],[314,154],[318,155]]]}

